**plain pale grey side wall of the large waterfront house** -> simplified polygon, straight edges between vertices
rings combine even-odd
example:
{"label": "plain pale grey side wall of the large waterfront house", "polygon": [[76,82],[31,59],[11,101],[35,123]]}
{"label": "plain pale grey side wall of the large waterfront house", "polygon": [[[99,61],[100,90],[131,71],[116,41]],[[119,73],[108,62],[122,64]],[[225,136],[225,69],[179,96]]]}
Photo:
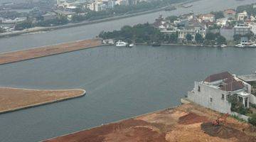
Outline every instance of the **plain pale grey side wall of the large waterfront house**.
{"label": "plain pale grey side wall of the large waterfront house", "polygon": [[[198,92],[198,86],[201,88],[200,92]],[[195,82],[195,89],[193,92],[188,92],[188,99],[203,107],[230,114],[231,104],[227,100],[226,93],[223,90],[209,87],[201,82]],[[221,99],[222,94],[224,94],[224,99]],[[210,102],[210,98],[212,98],[212,102]]]}

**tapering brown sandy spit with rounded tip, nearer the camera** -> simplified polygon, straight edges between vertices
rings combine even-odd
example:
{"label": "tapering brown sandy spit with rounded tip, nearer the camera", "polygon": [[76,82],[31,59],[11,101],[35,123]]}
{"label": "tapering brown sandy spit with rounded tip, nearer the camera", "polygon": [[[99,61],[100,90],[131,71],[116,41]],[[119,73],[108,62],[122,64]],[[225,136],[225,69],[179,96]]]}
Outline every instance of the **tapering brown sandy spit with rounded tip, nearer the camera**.
{"label": "tapering brown sandy spit with rounded tip, nearer the camera", "polygon": [[80,97],[82,89],[35,90],[0,87],[0,113]]}

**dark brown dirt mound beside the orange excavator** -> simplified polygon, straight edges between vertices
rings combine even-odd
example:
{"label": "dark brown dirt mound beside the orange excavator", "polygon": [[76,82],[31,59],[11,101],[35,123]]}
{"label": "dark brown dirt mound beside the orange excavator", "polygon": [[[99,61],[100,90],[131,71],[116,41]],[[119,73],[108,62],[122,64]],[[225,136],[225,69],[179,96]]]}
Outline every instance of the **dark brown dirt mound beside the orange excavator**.
{"label": "dark brown dirt mound beside the orange excavator", "polygon": [[213,126],[211,122],[201,124],[201,129],[210,136],[219,138],[238,138],[239,141],[255,141],[255,137],[246,136],[245,133],[228,126]]}

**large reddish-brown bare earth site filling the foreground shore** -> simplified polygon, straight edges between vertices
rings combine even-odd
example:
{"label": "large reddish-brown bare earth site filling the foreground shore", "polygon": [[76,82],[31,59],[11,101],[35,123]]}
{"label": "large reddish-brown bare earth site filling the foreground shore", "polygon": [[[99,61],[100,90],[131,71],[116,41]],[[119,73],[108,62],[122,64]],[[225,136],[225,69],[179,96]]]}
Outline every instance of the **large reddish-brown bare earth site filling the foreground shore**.
{"label": "large reddish-brown bare earth site filling the foreground shore", "polygon": [[210,122],[218,116],[217,112],[196,104],[183,104],[47,141],[256,141],[255,127],[231,117],[226,125],[212,126]]}

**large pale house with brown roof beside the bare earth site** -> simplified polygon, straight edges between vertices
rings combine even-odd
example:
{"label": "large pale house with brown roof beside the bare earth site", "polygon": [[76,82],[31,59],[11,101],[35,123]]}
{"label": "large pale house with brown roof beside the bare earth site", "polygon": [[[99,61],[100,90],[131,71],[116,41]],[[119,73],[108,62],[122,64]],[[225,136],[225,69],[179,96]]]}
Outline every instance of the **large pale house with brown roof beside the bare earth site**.
{"label": "large pale house with brown roof beside the bare earth site", "polygon": [[[188,99],[203,107],[220,111],[221,113],[231,113],[231,104],[228,98],[237,95],[243,107],[249,107],[251,85],[238,79],[229,72],[210,75],[201,82],[195,82],[195,87],[188,92]],[[255,102],[251,102],[255,104]]]}

